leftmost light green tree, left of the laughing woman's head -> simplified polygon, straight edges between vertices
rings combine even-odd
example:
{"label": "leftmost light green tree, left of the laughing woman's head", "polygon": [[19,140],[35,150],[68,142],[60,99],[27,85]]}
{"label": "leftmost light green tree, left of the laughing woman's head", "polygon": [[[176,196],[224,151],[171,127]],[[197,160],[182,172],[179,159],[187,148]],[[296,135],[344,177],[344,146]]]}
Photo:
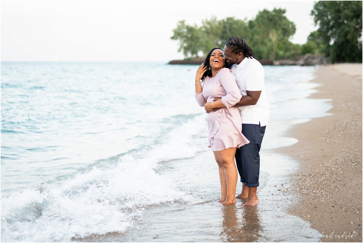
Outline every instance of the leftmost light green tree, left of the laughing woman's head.
{"label": "leftmost light green tree, left of the laughing woman's head", "polygon": [[198,52],[202,50],[201,28],[198,28],[197,25],[194,27],[187,25],[185,20],[181,20],[173,32],[174,35],[170,39],[179,40],[178,52],[183,51],[185,59],[198,57]]}

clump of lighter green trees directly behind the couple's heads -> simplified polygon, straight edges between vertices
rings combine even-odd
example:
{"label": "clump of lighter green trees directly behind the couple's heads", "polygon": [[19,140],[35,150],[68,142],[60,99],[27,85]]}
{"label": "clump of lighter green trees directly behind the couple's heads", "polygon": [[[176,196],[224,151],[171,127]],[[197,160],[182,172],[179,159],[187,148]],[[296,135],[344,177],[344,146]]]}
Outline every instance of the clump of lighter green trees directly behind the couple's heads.
{"label": "clump of lighter green trees directly behind the couple's heads", "polygon": [[301,52],[301,47],[292,44],[289,39],[296,28],[293,22],[285,16],[285,9],[260,11],[254,20],[228,17],[217,20],[216,17],[202,21],[201,27],[189,26],[185,21],[179,21],[172,40],[179,40],[179,52],[183,51],[185,58],[197,57],[201,51],[206,55],[215,47],[223,48],[229,37],[239,36],[252,47],[259,59],[295,58]]}

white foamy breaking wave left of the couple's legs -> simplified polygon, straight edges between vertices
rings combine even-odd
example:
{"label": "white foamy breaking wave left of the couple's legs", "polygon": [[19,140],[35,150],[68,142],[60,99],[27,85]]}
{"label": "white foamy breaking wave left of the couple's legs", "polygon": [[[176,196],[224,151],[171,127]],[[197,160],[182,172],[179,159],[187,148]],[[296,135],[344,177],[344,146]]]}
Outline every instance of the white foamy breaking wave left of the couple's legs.
{"label": "white foamy breaking wave left of the couple's legs", "polygon": [[196,116],[154,145],[2,198],[1,241],[69,241],[125,232],[144,207],[185,202],[191,196],[158,172],[160,162],[195,156],[192,138],[206,126],[205,116]]}

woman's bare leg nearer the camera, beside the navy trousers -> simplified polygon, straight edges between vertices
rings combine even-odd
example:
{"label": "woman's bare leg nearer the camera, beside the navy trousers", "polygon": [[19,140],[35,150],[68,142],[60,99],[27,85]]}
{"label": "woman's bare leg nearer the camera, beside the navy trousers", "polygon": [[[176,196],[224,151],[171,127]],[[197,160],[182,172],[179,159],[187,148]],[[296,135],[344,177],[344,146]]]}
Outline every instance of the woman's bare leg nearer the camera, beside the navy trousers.
{"label": "woman's bare leg nearer the camera, beside the navy trousers", "polygon": [[[213,151],[214,152],[214,151]],[[237,168],[234,164],[234,154],[236,147],[217,151],[219,161],[223,165],[227,184],[227,198],[222,205],[236,203]]]}

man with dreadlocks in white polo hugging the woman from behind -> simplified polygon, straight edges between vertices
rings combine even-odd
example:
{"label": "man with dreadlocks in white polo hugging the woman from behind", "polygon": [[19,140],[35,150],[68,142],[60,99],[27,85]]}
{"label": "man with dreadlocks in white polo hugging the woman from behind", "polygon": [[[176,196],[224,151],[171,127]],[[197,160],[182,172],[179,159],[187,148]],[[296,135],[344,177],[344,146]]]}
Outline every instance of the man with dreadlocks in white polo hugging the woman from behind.
{"label": "man with dreadlocks in white polo hugging the woman from behind", "polygon": [[242,98],[238,106],[242,119],[242,134],[250,143],[236,151],[236,164],[243,183],[242,192],[236,198],[247,198],[244,206],[258,202],[260,185],[260,148],[269,119],[269,101],[265,92],[265,71],[255,58],[253,50],[240,37],[231,37],[224,46],[225,60],[232,65],[232,73]]}

